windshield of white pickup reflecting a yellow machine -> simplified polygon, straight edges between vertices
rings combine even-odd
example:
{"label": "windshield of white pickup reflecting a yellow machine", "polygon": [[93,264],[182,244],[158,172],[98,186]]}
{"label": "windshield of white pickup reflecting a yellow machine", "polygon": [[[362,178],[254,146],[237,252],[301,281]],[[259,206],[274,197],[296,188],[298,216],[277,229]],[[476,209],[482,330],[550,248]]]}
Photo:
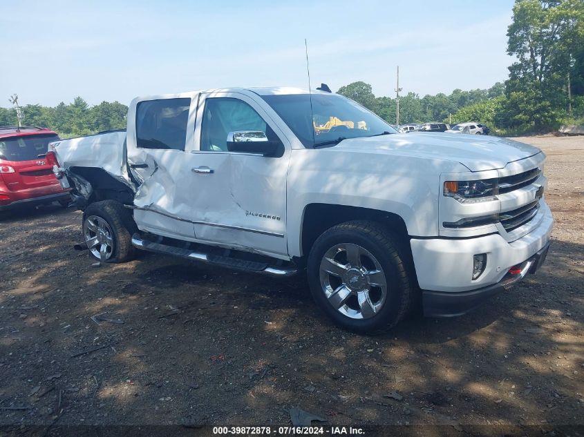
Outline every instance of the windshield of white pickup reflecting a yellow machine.
{"label": "windshield of white pickup reflecting a yellow machine", "polygon": [[[346,97],[331,94],[263,95],[305,147],[335,144],[339,139],[397,133],[383,119]],[[312,125],[312,126],[311,126]]]}

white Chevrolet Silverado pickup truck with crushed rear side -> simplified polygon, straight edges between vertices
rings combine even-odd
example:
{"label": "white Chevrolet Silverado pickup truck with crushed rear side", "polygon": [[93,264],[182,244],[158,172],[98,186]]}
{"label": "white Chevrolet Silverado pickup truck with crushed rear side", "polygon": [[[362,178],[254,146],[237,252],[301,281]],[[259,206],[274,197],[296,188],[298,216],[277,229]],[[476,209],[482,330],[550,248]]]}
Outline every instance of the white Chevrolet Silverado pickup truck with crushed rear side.
{"label": "white Chevrolet Silverado pickup truck with crushed rear side", "polygon": [[134,249],[288,276],[346,329],[420,304],[466,313],[542,264],[545,155],[509,139],[399,134],[354,101],[296,88],[139,97],[126,131],[51,144],[84,211],[82,249]]}

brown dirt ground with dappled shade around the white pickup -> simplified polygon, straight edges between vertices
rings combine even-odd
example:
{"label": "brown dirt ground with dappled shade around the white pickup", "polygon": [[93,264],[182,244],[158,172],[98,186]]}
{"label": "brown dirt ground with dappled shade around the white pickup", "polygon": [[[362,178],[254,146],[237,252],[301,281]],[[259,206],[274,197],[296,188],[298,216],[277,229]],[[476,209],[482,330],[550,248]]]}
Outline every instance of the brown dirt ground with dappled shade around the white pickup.
{"label": "brown dirt ground with dappled shade around the white pickup", "polygon": [[[73,249],[79,212],[1,214],[0,434],[289,425],[292,407],[325,425],[460,436],[583,426],[584,137],[520,141],[548,156],[545,266],[474,313],[411,318],[383,336],[330,324],[301,279],[152,253],[95,267]],[[91,319],[100,313],[109,321]]]}

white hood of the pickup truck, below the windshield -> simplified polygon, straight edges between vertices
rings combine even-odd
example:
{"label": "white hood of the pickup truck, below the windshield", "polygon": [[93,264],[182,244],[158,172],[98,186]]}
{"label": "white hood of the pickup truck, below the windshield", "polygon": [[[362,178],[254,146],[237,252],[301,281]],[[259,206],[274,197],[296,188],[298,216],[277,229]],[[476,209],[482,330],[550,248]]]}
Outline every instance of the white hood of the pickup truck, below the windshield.
{"label": "white hood of the pickup truck, below the windshield", "polygon": [[501,137],[417,132],[345,139],[331,149],[444,159],[460,162],[470,171],[503,168],[509,162],[541,151],[529,144]]}

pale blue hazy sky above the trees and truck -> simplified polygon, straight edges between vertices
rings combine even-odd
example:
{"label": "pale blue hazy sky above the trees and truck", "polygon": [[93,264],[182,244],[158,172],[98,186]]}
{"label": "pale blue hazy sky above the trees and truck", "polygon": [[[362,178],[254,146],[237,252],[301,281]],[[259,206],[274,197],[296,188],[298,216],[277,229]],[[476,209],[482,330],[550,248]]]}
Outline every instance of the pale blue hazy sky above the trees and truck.
{"label": "pale blue hazy sky above the trees and truck", "polygon": [[[513,0],[0,1],[0,106],[88,104],[230,86],[376,96],[507,79]],[[487,6],[488,4],[488,6]]]}

